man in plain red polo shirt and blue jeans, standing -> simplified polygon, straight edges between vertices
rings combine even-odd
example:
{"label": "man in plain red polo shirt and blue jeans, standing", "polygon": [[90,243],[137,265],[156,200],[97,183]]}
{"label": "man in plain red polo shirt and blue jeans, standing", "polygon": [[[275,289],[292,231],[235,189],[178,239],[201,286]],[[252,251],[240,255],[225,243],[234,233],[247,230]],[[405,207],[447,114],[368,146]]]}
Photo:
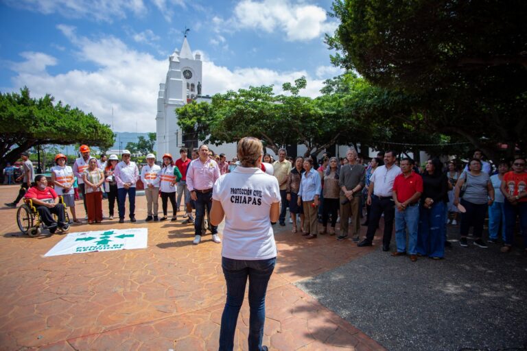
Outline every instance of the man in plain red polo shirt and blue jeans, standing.
{"label": "man in plain red polo shirt and blue jeans, standing", "polygon": [[423,178],[414,173],[414,160],[403,158],[399,167],[403,173],[393,182],[395,202],[395,243],[397,251],[392,256],[406,255],[406,229],[408,229],[408,254],[417,261],[417,228],[419,226],[419,197],[423,193]]}

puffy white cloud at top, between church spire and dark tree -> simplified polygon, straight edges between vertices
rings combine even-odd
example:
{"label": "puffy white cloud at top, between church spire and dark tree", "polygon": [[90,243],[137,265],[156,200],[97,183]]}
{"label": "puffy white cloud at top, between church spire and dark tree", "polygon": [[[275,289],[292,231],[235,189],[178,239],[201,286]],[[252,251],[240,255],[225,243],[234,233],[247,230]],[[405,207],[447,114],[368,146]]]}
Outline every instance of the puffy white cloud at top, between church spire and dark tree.
{"label": "puffy white cloud at top, between church spire and dark tree", "polygon": [[267,33],[281,31],[289,41],[305,41],[333,32],[336,22],[328,21],[326,10],[303,2],[288,0],[244,0],[239,2],[231,19],[213,18],[218,32],[258,29]]}

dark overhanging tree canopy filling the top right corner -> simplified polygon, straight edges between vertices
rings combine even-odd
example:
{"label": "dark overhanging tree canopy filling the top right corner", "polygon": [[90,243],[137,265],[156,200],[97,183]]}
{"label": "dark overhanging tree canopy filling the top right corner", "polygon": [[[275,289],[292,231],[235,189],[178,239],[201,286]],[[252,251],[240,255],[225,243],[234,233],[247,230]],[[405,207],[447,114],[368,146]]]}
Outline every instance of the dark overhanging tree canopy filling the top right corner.
{"label": "dark overhanging tree canopy filling the top right corner", "polygon": [[526,13],[520,0],[336,0],[326,40],[334,64],[414,95],[423,125],[495,158],[499,143],[527,147]]}

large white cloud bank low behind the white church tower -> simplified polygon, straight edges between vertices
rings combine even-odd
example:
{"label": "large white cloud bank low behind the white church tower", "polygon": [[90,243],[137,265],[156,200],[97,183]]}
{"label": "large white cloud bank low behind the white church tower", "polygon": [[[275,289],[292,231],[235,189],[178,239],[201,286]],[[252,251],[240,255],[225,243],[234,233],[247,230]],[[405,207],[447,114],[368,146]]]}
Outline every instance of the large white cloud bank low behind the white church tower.
{"label": "large white cloud bank low behind the white church tower", "polygon": [[[95,64],[97,68],[52,75],[47,67],[60,64],[57,58],[46,53],[23,52],[23,60],[10,66],[16,73],[12,78],[12,90],[28,86],[34,97],[50,93],[56,101],[86,113],[92,112],[99,121],[109,125],[113,108],[115,130],[119,132],[134,130],[136,122],[139,131],[155,131],[157,95],[159,84],[165,81],[167,59],[157,60],[150,53],[130,49],[113,36],[91,40],[77,36],[73,27],[62,25],[59,29],[76,48],[75,58]],[[306,71],[274,71],[259,67],[228,69],[211,62],[206,53],[200,53],[204,94],[264,84],[274,84],[275,93],[282,93],[284,82],[294,82],[302,75],[307,77],[307,89],[301,90],[301,95],[316,97],[323,86],[323,77],[312,79]]]}

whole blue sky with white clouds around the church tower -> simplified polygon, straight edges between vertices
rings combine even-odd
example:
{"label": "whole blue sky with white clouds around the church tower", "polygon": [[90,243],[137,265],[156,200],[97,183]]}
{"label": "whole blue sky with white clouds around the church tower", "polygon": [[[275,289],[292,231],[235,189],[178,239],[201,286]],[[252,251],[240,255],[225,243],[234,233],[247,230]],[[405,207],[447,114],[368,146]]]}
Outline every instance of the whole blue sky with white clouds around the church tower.
{"label": "whole blue sky with white clouds around the church tower", "polygon": [[[159,83],[183,43],[202,54],[203,93],[305,75],[315,97],[338,75],[323,43],[331,1],[0,0],[0,91],[92,112],[119,132],[154,132]],[[112,109],[114,117],[112,119]],[[136,127],[137,125],[137,127]]]}

